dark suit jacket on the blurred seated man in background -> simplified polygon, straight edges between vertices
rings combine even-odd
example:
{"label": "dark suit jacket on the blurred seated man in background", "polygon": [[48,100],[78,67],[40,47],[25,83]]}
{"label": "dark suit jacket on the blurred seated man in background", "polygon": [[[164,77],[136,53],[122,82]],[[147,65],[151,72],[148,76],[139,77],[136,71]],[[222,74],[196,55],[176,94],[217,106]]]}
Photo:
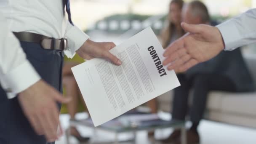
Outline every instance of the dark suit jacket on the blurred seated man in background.
{"label": "dark suit jacket on the blurred seated man in background", "polygon": [[236,90],[254,91],[255,86],[240,48],[234,51],[222,51],[215,58],[189,69],[185,75],[191,78],[200,73],[210,73],[228,77],[236,86]]}

